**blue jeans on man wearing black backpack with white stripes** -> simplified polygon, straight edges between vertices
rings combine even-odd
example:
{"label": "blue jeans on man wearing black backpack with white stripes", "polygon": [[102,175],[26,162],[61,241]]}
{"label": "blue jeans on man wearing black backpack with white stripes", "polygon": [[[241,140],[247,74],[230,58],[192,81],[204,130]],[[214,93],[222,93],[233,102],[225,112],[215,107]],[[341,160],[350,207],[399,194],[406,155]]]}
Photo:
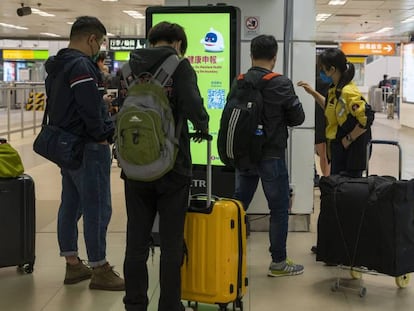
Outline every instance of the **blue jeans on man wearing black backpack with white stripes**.
{"label": "blue jeans on man wearing black backpack with white stripes", "polygon": [[270,210],[270,253],[273,262],[286,259],[286,239],[289,221],[289,177],[284,159],[262,160],[257,170],[236,170],[234,198],[247,210],[259,178]]}

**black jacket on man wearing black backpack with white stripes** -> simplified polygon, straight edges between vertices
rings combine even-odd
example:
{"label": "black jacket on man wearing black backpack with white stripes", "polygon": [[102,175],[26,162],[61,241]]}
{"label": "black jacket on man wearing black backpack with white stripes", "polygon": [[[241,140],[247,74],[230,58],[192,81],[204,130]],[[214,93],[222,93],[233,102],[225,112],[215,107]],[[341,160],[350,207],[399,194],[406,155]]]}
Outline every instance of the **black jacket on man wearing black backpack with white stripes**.
{"label": "black jacket on man wearing black backpack with white stripes", "polygon": [[[252,67],[245,79],[254,84],[270,73],[261,67]],[[235,91],[233,82],[229,97]],[[305,112],[295,94],[292,81],[285,76],[277,76],[267,82],[263,94],[263,125],[266,142],[263,146],[263,159],[284,158],[288,139],[288,126],[297,126],[305,121]]]}

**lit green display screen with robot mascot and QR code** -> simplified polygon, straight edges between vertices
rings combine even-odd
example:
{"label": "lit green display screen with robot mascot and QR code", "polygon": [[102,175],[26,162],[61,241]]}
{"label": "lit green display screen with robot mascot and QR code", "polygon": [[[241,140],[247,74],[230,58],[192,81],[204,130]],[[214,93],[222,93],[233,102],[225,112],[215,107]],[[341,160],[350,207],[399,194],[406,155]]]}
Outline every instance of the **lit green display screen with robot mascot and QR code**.
{"label": "lit green display screen with robot mascot and QR code", "polygon": [[[152,25],[167,21],[184,27],[188,58],[197,73],[198,87],[210,115],[212,164],[223,165],[217,152],[222,109],[230,89],[230,13],[153,13]],[[189,124],[192,130],[192,124]],[[194,164],[206,164],[205,144],[191,143]]]}

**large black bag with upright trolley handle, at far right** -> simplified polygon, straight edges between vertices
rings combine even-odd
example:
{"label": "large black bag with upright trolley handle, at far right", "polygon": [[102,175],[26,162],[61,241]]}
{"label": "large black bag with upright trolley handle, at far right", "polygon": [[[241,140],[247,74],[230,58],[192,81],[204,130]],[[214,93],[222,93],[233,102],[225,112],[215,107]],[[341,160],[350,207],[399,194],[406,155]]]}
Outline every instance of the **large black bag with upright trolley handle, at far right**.
{"label": "large black bag with upright trolley handle, at far right", "polygon": [[[398,142],[372,143],[398,147],[401,178]],[[321,178],[319,187],[316,260],[395,277],[414,272],[414,180],[336,175]]]}

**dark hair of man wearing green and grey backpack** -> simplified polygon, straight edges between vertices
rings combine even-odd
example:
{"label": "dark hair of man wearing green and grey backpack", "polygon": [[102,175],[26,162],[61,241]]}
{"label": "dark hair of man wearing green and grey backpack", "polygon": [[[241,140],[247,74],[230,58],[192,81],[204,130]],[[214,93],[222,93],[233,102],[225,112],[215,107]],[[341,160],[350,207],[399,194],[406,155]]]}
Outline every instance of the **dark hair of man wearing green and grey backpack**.
{"label": "dark hair of man wearing green and grey backpack", "polygon": [[148,42],[154,45],[159,41],[166,41],[168,43],[181,41],[181,54],[184,55],[187,51],[187,36],[184,28],[178,24],[160,22],[152,27],[148,32]]}

